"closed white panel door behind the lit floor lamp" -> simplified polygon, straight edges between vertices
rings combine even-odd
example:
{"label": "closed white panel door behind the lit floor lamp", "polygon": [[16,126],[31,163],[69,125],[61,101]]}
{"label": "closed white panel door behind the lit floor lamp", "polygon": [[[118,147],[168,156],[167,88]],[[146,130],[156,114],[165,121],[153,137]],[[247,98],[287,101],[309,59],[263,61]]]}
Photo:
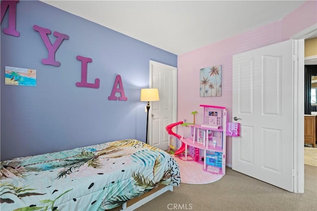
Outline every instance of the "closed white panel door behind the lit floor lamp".
{"label": "closed white panel door behind the lit floor lamp", "polygon": [[149,144],[167,150],[168,134],[165,127],[176,121],[177,68],[150,61],[150,88],[159,89],[159,101],[150,102]]}

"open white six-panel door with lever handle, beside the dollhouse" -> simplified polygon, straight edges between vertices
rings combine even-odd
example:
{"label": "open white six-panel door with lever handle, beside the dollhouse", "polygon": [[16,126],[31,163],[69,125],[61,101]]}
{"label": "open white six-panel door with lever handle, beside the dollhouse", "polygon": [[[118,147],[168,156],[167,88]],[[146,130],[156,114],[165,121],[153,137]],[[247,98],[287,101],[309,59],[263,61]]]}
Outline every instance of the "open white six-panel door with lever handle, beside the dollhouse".
{"label": "open white six-panel door with lever handle, beside the dollhouse", "polygon": [[291,192],[297,42],[234,55],[232,80],[232,116],[240,118],[232,121],[241,124],[240,137],[232,138],[232,169]]}

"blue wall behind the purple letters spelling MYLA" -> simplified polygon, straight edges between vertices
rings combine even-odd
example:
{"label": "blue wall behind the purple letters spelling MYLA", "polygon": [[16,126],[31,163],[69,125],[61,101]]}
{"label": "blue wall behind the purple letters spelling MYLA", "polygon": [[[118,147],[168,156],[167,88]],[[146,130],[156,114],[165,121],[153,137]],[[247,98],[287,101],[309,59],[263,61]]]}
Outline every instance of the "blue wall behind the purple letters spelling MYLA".
{"label": "blue wall behind the purple letters spelling MYLA", "polygon": [[[69,36],[55,53],[59,67],[45,65],[48,50],[38,25]],[[149,87],[150,60],[177,66],[177,55],[163,51],[41,1],[17,3],[16,30],[6,35],[8,12],[1,22],[1,160],[44,154],[120,139],[145,141],[146,102],[141,88]],[[88,63],[88,83],[76,87],[81,61]],[[35,69],[35,87],[4,84],[5,66]],[[127,101],[109,101],[116,75],[122,78]]]}

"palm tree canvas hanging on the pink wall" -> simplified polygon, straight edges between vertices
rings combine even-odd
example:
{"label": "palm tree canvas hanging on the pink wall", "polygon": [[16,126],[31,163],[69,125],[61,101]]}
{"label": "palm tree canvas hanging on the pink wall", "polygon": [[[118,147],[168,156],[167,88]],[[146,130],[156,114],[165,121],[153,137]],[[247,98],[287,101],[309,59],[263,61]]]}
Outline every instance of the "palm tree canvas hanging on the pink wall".
{"label": "palm tree canvas hanging on the pink wall", "polygon": [[200,97],[221,96],[221,65],[200,69]]}

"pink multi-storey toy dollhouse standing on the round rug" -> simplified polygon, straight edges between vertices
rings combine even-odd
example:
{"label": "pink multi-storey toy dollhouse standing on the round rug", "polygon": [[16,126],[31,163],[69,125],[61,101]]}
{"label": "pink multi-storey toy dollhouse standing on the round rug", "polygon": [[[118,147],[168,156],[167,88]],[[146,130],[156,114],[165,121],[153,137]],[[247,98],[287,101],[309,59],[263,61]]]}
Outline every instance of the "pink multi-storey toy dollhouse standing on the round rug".
{"label": "pink multi-storey toy dollhouse standing on the round rug", "polygon": [[192,124],[191,137],[181,136],[187,160],[188,147],[193,147],[195,160],[199,151],[204,152],[204,170],[206,165],[219,169],[225,174],[227,110],[222,106],[200,105],[204,108],[204,123]]}

